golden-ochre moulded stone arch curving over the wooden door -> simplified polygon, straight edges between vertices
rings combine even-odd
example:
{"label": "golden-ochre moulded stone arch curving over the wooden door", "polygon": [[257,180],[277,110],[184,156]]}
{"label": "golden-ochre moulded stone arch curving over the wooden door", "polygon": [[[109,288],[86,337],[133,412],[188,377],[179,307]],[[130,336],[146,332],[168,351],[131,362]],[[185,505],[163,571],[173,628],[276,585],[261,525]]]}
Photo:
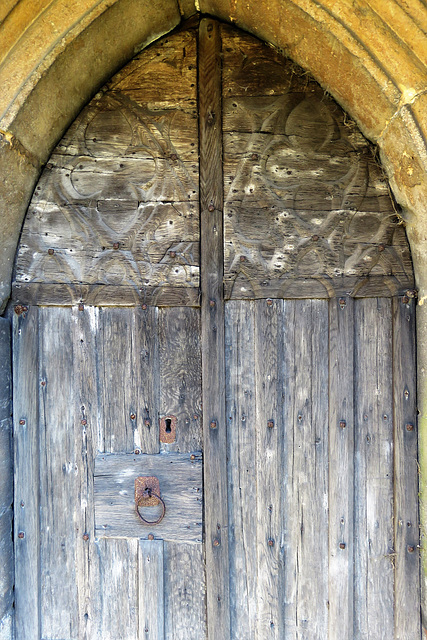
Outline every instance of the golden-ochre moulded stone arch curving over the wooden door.
{"label": "golden-ochre moulded stone arch curving over the wooden door", "polygon": [[[420,460],[427,458],[427,9],[422,0],[6,0],[0,9],[0,292],[8,298],[35,182],[105,80],[196,11],[233,22],[307,69],[380,149],[403,207],[419,290]],[[422,489],[425,487],[422,475]],[[427,523],[424,507],[422,521]]]}

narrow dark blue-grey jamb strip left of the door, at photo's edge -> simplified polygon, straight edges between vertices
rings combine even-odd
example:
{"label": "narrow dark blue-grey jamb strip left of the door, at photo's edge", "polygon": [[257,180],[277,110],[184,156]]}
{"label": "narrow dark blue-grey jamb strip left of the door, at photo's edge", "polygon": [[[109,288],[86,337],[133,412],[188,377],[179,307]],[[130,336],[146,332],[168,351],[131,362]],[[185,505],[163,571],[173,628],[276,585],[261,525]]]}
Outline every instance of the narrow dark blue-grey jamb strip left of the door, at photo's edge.
{"label": "narrow dark blue-grey jamb strip left of the door, at photo's edge", "polygon": [[0,621],[13,602],[11,400],[11,326],[9,319],[0,318]]}

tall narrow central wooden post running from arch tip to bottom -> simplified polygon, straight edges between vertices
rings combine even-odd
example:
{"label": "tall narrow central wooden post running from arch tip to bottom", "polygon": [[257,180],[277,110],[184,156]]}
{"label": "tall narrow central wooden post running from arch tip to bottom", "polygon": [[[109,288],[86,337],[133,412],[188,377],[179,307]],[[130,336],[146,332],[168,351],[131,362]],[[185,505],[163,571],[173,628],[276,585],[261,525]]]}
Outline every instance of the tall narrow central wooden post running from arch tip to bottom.
{"label": "tall narrow central wooden post running from arch tip to bottom", "polygon": [[230,638],[223,304],[221,62],[218,24],[199,28],[203,449],[208,637]]}

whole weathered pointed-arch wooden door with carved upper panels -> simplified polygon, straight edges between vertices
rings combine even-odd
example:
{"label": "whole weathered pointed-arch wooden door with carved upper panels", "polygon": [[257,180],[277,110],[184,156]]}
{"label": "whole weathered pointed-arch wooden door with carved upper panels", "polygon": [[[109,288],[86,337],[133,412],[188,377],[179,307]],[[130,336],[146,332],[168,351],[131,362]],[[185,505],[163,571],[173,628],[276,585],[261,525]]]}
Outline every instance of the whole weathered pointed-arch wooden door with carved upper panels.
{"label": "whole weathered pointed-arch wooden door with carved upper panels", "polygon": [[211,19],[139,54],[19,247],[17,639],[420,637],[413,296],[316,83]]}

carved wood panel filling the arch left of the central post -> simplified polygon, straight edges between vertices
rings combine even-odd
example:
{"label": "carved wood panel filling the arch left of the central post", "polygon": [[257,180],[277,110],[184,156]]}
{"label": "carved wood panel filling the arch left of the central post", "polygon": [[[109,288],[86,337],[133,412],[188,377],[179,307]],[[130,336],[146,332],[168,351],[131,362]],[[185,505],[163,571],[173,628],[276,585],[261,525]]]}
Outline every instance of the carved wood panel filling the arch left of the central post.
{"label": "carved wood panel filling the arch left of the central post", "polygon": [[127,65],[61,140],[28,211],[15,281],[18,299],[47,304],[197,303],[192,30]]}

